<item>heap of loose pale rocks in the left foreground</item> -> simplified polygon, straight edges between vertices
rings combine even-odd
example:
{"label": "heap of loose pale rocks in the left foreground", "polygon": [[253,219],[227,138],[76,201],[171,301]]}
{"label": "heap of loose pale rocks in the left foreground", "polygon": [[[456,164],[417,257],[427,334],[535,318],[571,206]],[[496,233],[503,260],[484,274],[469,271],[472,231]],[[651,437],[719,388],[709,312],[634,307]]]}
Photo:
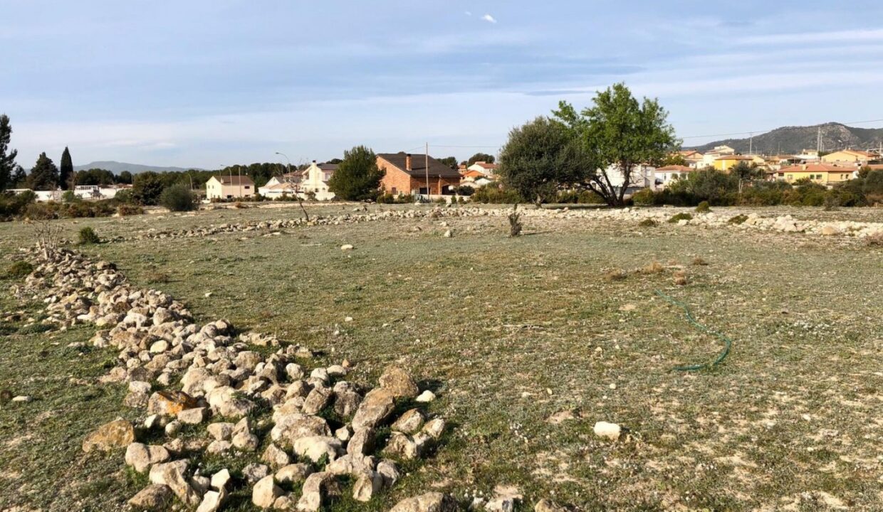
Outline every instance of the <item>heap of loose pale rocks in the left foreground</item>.
{"label": "heap of loose pale rocks in the left foreground", "polygon": [[[147,473],[150,485],[132,497],[133,508],[166,509],[173,498],[199,512],[223,508],[230,471],[200,474],[191,459],[199,453],[260,457],[243,471],[260,508],[318,510],[342,492],[342,477],[354,482],[353,499],[369,501],[400,478],[396,461],[424,456],[444,433],[445,420],[417,406],[434,394],[421,393],[403,368],[388,367],[366,389],[346,380],[346,361],[310,367],[306,347],[236,336],[223,320],[197,325],[182,303],[130,285],[111,263],[67,250],[32,256],[38,264],[19,295],[42,298],[59,327],[106,328],[90,342],[117,349],[119,364],[102,382],[127,382],[125,404],[145,411],[138,428],[117,419],[83,442],[85,451],[125,448],[125,464]],[[415,406],[396,414],[402,404]],[[185,426],[204,435],[185,440]],[[381,439],[387,426],[389,439]],[[162,441],[138,442],[146,436]],[[294,486],[301,492],[283,490]]]}

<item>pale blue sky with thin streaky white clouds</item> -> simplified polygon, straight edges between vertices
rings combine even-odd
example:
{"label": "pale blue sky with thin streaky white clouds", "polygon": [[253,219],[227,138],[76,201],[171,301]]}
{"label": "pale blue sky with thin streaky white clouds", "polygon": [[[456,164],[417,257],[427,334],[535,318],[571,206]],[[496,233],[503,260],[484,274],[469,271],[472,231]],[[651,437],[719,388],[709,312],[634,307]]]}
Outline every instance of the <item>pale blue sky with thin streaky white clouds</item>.
{"label": "pale blue sky with thin streaky white clouds", "polygon": [[23,167],[65,145],[75,165],[464,160],[625,82],[698,145],[883,118],[880,20],[879,0],[0,0],[0,113]]}

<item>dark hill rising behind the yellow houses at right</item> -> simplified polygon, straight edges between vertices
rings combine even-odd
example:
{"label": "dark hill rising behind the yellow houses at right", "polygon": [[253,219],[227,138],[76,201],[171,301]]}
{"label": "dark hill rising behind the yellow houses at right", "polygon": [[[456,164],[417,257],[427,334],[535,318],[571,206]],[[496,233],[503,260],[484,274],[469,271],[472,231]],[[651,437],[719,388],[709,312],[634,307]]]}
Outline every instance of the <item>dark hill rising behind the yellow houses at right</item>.
{"label": "dark hill rising behind the yellow houses at right", "polygon": [[840,122],[826,122],[815,126],[783,126],[750,138],[727,138],[684,149],[706,152],[716,145],[728,145],[736,152],[747,153],[750,149],[763,154],[793,154],[804,149],[816,149],[819,130],[822,134],[822,151],[841,149],[866,150],[883,144],[883,128],[855,128]]}

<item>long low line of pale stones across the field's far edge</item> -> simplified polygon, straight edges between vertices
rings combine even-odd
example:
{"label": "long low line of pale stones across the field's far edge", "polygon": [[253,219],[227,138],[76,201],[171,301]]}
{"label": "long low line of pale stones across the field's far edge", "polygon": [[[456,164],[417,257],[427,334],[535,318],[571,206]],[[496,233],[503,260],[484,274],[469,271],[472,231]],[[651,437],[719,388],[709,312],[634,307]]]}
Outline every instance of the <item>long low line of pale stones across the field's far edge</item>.
{"label": "long low line of pale stones across the field's far edge", "polygon": [[[378,211],[374,213],[346,213],[343,215],[316,217],[307,222],[304,219],[279,219],[242,222],[235,224],[221,224],[217,226],[204,226],[180,230],[155,230],[136,234],[129,239],[119,240],[159,240],[170,238],[192,238],[213,236],[215,234],[268,232],[278,234],[283,229],[291,229],[301,226],[337,226],[343,224],[358,224],[364,222],[395,221],[399,219],[440,219],[440,218],[476,218],[476,217],[506,217],[510,210],[506,208],[475,208],[436,207],[431,210],[393,210]],[[519,210],[525,219],[577,219],[597,222],[634,222],[638,223],[645,219],[653,219],[659,223],[668,221],[672,215],[679,212],[690,212],[693,219],[683,219],[676,226],[706,226],[713,228],[730,228],[738,230],[758,230],[779,233],[804,233],[814,235],[839,235],[854,238],[865,238],[874,234],[883,234],[883,223],[880,222],[857,222],[851,220],[826,222],[816,219],[796,220],[790,215],[778,217],[761,217],[756,212],[746,211],[748,218],[742,224],[731,224],[736,212],[728,211],[727,215],[720,215],[713,211],[696,213],[686,208],[623,208],[623,209],[578,209],[561,210],[547,209],[523,209]],[[450,230],[448,230],[449,233]],[[446,234],[450,236],[450,234]]]}

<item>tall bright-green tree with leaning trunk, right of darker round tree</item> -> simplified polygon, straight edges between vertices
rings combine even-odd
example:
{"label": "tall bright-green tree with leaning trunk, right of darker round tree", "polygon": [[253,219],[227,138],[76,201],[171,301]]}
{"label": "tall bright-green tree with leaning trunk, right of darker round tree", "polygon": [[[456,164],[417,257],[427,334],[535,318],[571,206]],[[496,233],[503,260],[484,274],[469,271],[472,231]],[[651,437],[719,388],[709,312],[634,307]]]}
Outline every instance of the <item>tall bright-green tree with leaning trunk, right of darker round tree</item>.
{"label": "tall bright-green tree with leaning trunk, right of darker round tree", "polygon": [[562,101],[554,115],[577,138],[580,151],[597,160],[599,167],[586,169],[585,186],[611,206],[625,204],[642,164],[659,165],[679,145],[659,101],[638,101],[624,84],[598,93],[594,105],[578,114]]}

